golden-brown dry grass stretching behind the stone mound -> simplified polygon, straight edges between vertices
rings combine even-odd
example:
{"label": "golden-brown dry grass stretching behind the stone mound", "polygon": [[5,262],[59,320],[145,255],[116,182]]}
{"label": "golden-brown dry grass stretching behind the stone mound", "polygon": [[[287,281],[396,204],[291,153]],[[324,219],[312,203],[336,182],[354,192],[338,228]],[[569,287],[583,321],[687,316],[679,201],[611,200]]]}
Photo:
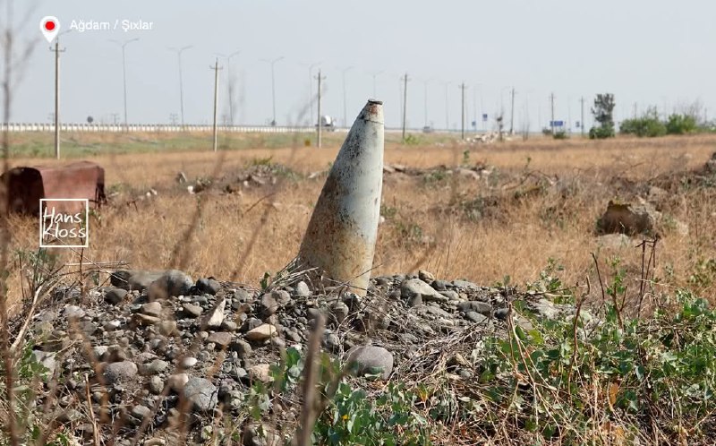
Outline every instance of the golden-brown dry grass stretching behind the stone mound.
{"label": "golden-brown dry grass stretching behind the stone mound", "polygon": [[[105,142],[109,144],[111,138]],[[101,210],[101,222],[90,223],[90,249],[84,255],[95,262],[124,261],[142,269],[182,266],[194,277],[230,279],[237,272],[234,279],[256,283],[265,271],[280,270],[294,257],[322,177],[280,177],[275,185],[241,194],[208,191],[191,195],[185,186],[175,183],[177,172],[183,171],[190,180],[216,172],[217,177],[232,177],[252,161],[270,157],[271,162],[307,175],[326,169],[333,161],[340,141],[329,144],[327,149],[316,150],[296,141],[294,147],[228,150],[218,155],[171,152],[171,147],[162,147],[161,153],[88,158],[106,168],[107,189],[122,193]],[[464,161],[464,150],[469,150],[471,163],[494,166],[499,175],[494,176],[494,184],[457,176],[432,182],[415,176],[386,176],[383,204],[389,215],[379,229],[376,273],[422,268],[447,279],[491,284],[508,275],[512,283],[524,283],[535,279],[551,257],[565,266],[563,279],[574,284],[592,268],[590,253],[600,250],[593,228],[609,199],[614,198],[616,177],[638,184],[661,174],[701,167],[715,147],[712,136],[604,142],[534,139],[473,147],[456,142],[428,146],[388,142],[387,164],[456,166]],[[43,160],[42,164],[54,162]],[[23,163],[35,164],[37,159],[13,159],[15,166]],[[526,190],[537,176],[550,176],[557,185],[515,199],[515,192]],[[519,184],[520,178],[526,180],[524,184]],[[560,192],[563,185],[572,191],[566,197]],[[126,204],[150,187],[158,196]],[[670,286],[684,285],[699,259],[716,258],[713,195],[712,190],[699,189],[669,197],[665,213],[689,228],[688,235],[668,227],[662,231],[656,275]],[[482,219],[466,219],[461,206],[477,196],[496,197],[498,204]],[[634,200],[635,196],[624,191],[620,198]],[[199,202],[196,229],[185,240]],[[549,215],[548,209],[552,211]],[[13,249],[37,249],[36,224],[29,219],[13,221]],[[187,253],[184,264],[175,258],[177,245]],[[64,251],[60,254],[70,257],[68,262],[77,261],[72,256],[79,257]],[[620,256],[629,270],[641,267],[638,249],[618,248],[605,254]],[[241,270],[235,271],[240,264]],[[12,280],[16,286],[16,279]],[[714,294],[708,287],[703,293]]]}

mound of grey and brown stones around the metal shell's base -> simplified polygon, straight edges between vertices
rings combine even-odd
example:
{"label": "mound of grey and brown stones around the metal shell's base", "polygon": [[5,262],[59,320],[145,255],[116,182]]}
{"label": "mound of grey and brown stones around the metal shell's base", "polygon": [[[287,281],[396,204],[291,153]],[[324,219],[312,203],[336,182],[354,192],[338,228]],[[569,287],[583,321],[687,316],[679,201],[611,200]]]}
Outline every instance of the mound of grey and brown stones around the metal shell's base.
{"label": "mound of grey and brown stones around the metal shell's base", "polygon": [[[308,276],[259,290],[194,282],[178,270],[124,270],[111,283],[85,295],[58,290],[32,316],[31,355],[48,373],[37,399],[49,407],[42,423],[77,444],[205,441],[205,426],[240,414],[252,383],[272,381],[270,365],[286,347],[305,351],[317,318],[325,320],[323,350],[350,360],[359,374],[401,381],[439,371],[469,381],[473,342],[505,332],[515,297],[510,288],[427,271],[373,278],[365,297],[312,286]],[[574,312],[522,297],[548,317]],[[300,410],[272,409],[284,425],[295,425]],[[264,444],[251,425],[243,427],[243,444]]]}

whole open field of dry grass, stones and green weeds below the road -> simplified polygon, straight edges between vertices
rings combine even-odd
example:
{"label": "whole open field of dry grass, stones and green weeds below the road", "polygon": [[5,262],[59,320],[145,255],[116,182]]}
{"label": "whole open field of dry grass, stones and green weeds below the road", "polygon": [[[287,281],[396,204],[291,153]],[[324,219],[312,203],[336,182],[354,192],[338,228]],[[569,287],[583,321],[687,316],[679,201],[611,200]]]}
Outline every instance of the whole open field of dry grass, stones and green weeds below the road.
{"label": "whole open field of dry grass, stones and green weeds below the road", "polygon": [[[388,139],[366,296],[276,274],[341,137],[68,137],[109,202],[82,251],[10,220],[9,438],[284,444],[315,411],[326,444],[712,443],[716,137]],[[47,135],[13,143],[57,163],[27,156]],[[612,201],[654,226],[601,235]]]}

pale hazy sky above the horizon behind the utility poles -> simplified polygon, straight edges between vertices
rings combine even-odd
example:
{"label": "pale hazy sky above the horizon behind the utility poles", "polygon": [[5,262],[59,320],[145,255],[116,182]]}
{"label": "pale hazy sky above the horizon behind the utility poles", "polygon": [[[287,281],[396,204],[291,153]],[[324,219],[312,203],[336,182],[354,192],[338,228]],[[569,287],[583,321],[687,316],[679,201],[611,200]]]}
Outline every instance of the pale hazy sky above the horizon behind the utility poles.
{"label": "pale hazy sky above the horizon behind the utility poles", "polygon": [[[0,22],[5,3],[0,0]],[[407,121],[460,125],[465,81],[466,123],[475,112],[493,117],[500,107],[509,124],[509,90],[516,89],[515,126],[548,125],[551,92],[556,119],[577,121],[594,94],[611,92],[616,117],[648,105],[669,111],[701,101],[716,115],[716,2],[712,0],[497,0],[497,1],[80,1],[15,0],[22,43],[36,45],[21,84],[13,90],[12,121],[48,122],[54,107],[54,56],[39,21],[55,15],[61,32],[72,21],[108,21],[116,30],[72,30],[61,36],[61,116],[64,122],[123,119],[122,50],[110,39],[140,38],[126,47],[128,116],[133,123],[168,123],[179,115],[179,73],[168,47],[183,52],[185,122],[212,117],[216,53],[230,54],[234,121],[266,124],[272,116],[270,65],[276,68],[277,123],[296,124],[308,109],[309,64],[320,62],[323,109],[353,122],[366,99],[384,101],[386,124],[400,123],[399,77],[408,73]],[[121,29],[123,20],[151,21],[152,30]],[[2,62],[0,62],[2,64]],[[219,116],[228,116],[226,58],[220,72]],[[317,70],[314,69],[315,76]],[[315,81],[314,81],[315,82]],[[447,84],[446,82],[450,82]],[[316,86],[313,85],[315,93]],[[447,91],[447,93],[446,93]],[[0,93],[2,94],[2,93]],[[447,116],[446,116],[447,94]],[[314,113],[316,112],[314,108]],[[307,116],[303,116],[307,119]],[[711,119],[711,117],[710,117]],[[313,120],[315,122],[315,120]],[[539,123],[539,124],[538,124]],[[466,124],[469,125],[469,124]],[[478,124],[482,128],[482,122]]]}

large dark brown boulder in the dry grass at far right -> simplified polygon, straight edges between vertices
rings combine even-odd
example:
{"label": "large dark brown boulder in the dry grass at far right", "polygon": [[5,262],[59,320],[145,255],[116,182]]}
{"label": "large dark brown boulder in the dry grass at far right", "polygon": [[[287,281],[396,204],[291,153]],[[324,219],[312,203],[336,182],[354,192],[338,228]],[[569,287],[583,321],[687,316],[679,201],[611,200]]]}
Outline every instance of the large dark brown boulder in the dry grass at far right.
{"label": "large dark brown boulder in the dry grass at far right", "polygon": [[660,214],[647,204],[615,203],[609,201],[607,210],[597,222],[604,234],[652,234]]}

